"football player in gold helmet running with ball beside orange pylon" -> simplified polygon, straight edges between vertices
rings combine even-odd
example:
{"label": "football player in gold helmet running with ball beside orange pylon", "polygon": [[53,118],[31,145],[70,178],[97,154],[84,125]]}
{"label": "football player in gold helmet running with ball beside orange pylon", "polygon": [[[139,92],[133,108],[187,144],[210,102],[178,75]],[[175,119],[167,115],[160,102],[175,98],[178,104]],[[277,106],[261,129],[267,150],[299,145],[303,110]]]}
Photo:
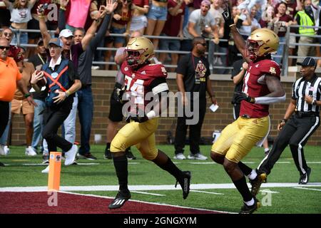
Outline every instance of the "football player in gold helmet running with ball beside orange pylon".
{"label": "football player in gold helmet running with ball beside orange pylon", "polygon": [[[188,197],[190,191],[190,172],[179,170],[164,152],[156,148],[155,131],[158,127],[158,113],[161,113],[163,107],[162,100],[167,99],[167,95],[163,99],[162,95],[168,93],[168,85],[164,66],[151,64],[149,61],[153,53],[153,43],[143,36],[131,38],[124,50],[126,61],[118,73],[123,73],[125,76],[126,91],[122,94],[123,90],[116,88],[116,93],[113,95],[119,102],[125,100],[125,97],[129,98],[128,103],[123,106],[123,114],[129,109],[130,122],[123,126],[111,141],[111,154],[118,177],[119,191],[109,204],[109,209],[120,208],[131,198],[131,192],[128,190],[128,162],[125,150],[132,145],[136,145],[146,160],[153,161],[175,177],[176,185],[179,183],[182,187],[183,199]],[[148,98],[151,94],[153,100]],[[151,102],[153,108],[148,110]]]}

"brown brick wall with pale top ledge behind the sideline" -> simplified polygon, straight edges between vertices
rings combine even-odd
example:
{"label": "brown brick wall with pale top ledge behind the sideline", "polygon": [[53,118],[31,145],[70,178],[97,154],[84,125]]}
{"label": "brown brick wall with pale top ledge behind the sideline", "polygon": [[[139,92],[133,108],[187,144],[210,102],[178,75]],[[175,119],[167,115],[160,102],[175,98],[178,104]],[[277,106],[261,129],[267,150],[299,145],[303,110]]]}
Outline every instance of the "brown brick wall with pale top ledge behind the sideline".
{"label": "brown brick wall with pale top ledge behind the sideline", "polygon": [[[295,67],[298,72],[298,68]],[[91,143],[106,143],[106,130],[108,125],[109,99],[115,82],[116,71],[93,71],[93,100],[94,113],[91,129]],[[297,73],[292,73],[288,77],[282,77],[287,99],[284,103],[273,104],[270,107],[271,131],[270,137],[275,138],[277,135],[277,123],[282,120],[287,105],[290,102],[292,83],[295,81]],[[234,85],[230,75],[211,75],[213,90],[218,100],[220,108],[215,113],[209,109],[205,115],[203,123],[202,137],[210,138],[214,130],[222,130],[228,123],[233,121],[233,105],[230,100],[233,95]],[[177,91],[175,83],[175,73],[169,73],[168,84],[170,90],[174,93]],[[210,106],[208,99],[208,107]],[[156,140],[160,144],[167,142],[168,131],[175,135],[176,118],[161,118],[160,125],[156,132]],[[123,126],[123,123],[119,125]],[[25,127],[22,115],[15,115],[11,130],[11,145],[25,144]],[[321,145],[321,128],[319,128],[312,138],[308,141],[309,145]],[[80,142],[80,125],[76,121],[76,141]]]}

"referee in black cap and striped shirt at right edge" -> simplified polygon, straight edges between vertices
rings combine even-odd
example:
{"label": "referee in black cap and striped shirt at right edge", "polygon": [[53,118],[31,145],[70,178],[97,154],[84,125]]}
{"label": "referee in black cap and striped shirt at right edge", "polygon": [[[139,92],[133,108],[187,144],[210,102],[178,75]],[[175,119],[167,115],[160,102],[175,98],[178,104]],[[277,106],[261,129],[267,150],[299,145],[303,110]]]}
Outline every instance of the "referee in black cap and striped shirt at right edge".
{"label": "referee in black cap and striped shirt at right edge", "polygon": [[[293,83],[290,104],[283,119],[277,125],[280,133],[269,155],[260,163],[258,170],[269,175],[275,162],[280,158],[285,147],[289,145],[295,166],[300,172],[299,185],[306,185],[309,182],[311,168],[305,161],[303,147],[320,125],[321,78],[315,74],[316,61],[314,58],[306,57],[302,63],[297,63],[297,65],[301,66],[302,78]],[[261,184],[259,182],[256,187],[256,193]]]}

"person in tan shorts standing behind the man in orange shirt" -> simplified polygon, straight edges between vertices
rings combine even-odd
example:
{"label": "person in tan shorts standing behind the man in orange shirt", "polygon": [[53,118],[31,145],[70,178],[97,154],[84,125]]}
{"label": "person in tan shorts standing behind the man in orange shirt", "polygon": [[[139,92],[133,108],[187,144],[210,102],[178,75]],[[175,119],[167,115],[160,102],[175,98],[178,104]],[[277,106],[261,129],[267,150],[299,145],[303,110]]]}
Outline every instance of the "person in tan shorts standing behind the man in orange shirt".
{"label": "person in tan shorts standing behind the man in orange shirt", "polygon": [[[24,54],[26,51],[24,48],[19,48],[14,53],[14,61],[16,65],[22,71],[21,80],[24,81],[26,88],[31,88],[30,79],[32,73],[34,73],[34,65],[32,63],[24,62]],[[34,105],[29,103],[29,100],[25,97],[21,90],[17,89],[14,93],[14,100],[11,101],[11,120],[14,120],[15,114],[22,113],[24,115],[24,125],[26,128],[26,151],[28,156],[37,155],[36,151],[31,147],[32,135],[34,134]]]}

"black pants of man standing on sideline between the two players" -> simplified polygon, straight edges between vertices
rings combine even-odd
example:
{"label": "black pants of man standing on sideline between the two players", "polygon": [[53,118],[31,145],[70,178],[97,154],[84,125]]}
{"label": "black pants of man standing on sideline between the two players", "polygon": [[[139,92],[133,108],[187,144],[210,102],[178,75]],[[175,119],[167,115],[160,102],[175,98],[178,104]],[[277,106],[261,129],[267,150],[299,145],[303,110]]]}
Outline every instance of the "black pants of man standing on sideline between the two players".
{"label": "black pants of man standing on sideline between the two players", "polygon": [[[178,117],[177,119],[177,126],[176,126],[176,133],[175,133],[175,155],[184,152],[185,147],[185,140],[186,140],[186,133],[188,126],[190,127],[190,153],[195,155],[200,152],[200,130],[203,125],[203,120],[205,117],[206,112],[206,103],[199,104],[199,119],[198,123],[195,125],[186,125],[187,118],[184,114],[183,117]],[[195,115],[195,114],[194,114]]]}

